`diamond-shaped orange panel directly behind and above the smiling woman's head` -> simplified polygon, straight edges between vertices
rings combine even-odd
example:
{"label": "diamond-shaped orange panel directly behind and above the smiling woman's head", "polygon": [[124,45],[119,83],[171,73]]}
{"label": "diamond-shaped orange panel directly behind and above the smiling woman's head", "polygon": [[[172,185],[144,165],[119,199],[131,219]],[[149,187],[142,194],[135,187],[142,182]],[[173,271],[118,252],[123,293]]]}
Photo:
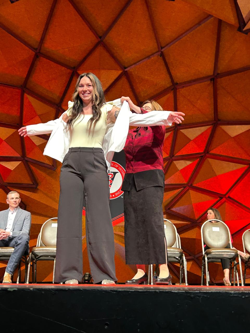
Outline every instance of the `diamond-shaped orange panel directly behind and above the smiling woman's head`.
{"label": "diamond-shaped orange panel directly behind and above the smiling woman's head", "polygon": [[122,69],[104,46],[99,45],[78,68],[77,72],[79,74],[94,73],[102,82],[102,88],[105,90],[122,72]]}

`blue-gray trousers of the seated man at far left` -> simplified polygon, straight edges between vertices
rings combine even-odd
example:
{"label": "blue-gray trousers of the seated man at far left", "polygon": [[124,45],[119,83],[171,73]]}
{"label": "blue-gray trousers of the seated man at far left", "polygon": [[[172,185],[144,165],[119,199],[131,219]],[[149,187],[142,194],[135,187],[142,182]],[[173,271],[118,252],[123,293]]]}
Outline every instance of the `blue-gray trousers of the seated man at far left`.
{"label": "blue-gray trousers of the seated man at far left", "polygon": [[29,254],[29,240],[30,236],[27,233],[21,233],[14,238],[0,240],[0,246],[14,247],[5,269],[7,273],[12,275],[25,252],[27,255]]}

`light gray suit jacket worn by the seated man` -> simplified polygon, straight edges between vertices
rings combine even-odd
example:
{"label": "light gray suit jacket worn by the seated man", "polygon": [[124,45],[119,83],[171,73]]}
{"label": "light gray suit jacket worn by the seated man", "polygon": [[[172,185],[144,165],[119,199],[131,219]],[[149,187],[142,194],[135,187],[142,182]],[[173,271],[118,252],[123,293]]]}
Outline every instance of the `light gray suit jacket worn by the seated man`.
{"label": "light gray suit jacket worn by the seated man", "polygon": [[[5,230],[8,222],[8,215],[9,215],[9,209],[0,211],[0,229]],[[21,233],[29,234],[30,226],[31,226],[31,213],[19,207],[13,221],[11,238],[17,237]]]}

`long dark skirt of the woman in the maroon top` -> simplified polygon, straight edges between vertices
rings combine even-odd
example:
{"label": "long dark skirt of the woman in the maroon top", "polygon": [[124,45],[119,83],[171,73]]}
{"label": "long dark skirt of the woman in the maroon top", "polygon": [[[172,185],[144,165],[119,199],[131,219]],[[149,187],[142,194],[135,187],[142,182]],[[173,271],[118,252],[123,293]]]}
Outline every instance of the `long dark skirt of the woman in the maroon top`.
{"label": "long dark skirt of the woman in the maroon top", "polygon": [[164,178],[162,186],[137,190],[133,177],[130,189],[124,190],[126,264],[166,263],[163,186]]}

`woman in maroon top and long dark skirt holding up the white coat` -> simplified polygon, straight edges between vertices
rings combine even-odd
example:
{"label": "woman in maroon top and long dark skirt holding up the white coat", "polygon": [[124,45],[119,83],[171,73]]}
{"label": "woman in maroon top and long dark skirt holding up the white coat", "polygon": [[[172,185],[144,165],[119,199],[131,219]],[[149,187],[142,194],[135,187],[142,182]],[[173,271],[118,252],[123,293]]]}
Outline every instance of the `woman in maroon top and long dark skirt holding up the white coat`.
{"label": "woman in maroon top and long dark skirt holding up the white coat", "polygon": [[[136,113],[163,110],[155,101],[135,106],[129,97],[122,97]],[[180,124],[184,114],[170,112],[168,122]],[[137,127],[129,130],[124,152],[126,174],[123,180],[126,264],[136,264],[137,273],[126,284],[146,283],[145,264],[159,264],[156,284],[172,284],[167,266],[167,245],[164,233],[162,201],[164,172],[162,149],[165,126]]]}

